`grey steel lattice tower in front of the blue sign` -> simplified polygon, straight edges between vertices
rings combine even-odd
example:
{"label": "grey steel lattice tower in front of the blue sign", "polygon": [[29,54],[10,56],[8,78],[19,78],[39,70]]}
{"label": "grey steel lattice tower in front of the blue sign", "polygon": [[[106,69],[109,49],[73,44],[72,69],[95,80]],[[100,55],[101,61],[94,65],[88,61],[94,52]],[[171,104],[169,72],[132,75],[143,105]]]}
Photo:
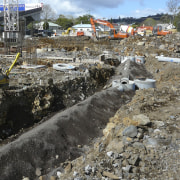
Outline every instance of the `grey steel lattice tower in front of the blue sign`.
{"label": "grey steel lattice tower in front of the blue sign", "polygon": [[4,51],[10,54],[12,45],[18,45],[19,33],[19,8],[18,0],[3,0],[4,5]]}

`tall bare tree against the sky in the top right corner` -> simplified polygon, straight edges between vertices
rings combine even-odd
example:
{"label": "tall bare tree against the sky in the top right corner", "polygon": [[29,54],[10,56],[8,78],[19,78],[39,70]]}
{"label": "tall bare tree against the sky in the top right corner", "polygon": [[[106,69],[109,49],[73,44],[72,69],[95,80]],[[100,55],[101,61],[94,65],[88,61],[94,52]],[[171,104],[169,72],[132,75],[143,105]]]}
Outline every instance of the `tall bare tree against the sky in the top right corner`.
{"label": "tall bare tree against the sky in the top right corner", "polygon": [[179,3],[180,3],[180,0],[168,0],[167,1],[167,7],[169,9],[169,12],[171,12],[173,14],[173,21],[174,21],[174,17],[179,12]]}

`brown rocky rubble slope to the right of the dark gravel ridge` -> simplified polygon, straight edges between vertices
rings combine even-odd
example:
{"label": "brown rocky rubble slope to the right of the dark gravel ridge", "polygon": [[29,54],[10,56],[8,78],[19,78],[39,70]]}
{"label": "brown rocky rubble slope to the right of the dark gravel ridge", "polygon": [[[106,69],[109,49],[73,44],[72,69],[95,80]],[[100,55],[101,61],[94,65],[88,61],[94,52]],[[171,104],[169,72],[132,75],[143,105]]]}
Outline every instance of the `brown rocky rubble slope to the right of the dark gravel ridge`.
{"label": "brown rocky rubble slope to the right of the dark gravel ridge", "polygon": [[[159,39],[162,46],[166,37]],[[171,41],[176,48],[177,39]],[[179,57],[176,48],[146,52],[145,66],[157,80],[157,88],[137,90],[132,101],[110,118],[104,136],[96,139],[85,154],[61,163],[40,178],[179,179],[180,66],[158,62],[154,55],[158,52]]]}

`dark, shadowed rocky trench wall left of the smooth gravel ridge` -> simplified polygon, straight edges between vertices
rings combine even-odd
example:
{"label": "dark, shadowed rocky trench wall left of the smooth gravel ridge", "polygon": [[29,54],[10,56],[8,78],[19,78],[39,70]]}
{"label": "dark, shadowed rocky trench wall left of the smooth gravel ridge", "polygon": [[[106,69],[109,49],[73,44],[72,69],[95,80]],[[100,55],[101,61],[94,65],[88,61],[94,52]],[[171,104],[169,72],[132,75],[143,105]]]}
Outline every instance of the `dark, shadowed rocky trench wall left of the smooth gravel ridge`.
{"label": "dark, shadowed rocky trench wall left of the smooth gravel ridge", "polygon": [[[113,68],[92,68],[90,77],[79,77],[48,86],[30,86],[2,91],[0,100],[0,138],[27,128],[56,112],[86,99],[102,88],[114,74]],[[49,80],[50,81],[50,80]]]}

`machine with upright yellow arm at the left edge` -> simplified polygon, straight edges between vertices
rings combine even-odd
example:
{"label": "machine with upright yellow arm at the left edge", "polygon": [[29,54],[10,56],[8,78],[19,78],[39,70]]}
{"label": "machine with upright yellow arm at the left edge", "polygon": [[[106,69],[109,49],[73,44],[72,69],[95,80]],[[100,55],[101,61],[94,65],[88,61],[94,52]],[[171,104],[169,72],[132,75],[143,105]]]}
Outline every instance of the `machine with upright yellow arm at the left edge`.
{"label": "machine with upright yellow arm at the left edge", "polygon": [[5,72],[0,68],[0,87],[7,87],[9,85],[9,73],[14,67],[16,61],[18,60],[20,53],[17,53],[15,60],[11,64],[10,68]]}

